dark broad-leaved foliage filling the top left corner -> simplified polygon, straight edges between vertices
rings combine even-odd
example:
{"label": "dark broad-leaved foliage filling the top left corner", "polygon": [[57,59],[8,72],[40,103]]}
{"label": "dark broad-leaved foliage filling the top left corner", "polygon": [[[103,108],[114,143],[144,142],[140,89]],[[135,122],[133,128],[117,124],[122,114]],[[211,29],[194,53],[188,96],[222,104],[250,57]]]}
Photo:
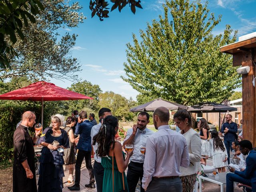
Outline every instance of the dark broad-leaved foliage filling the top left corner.
{"label": "dark broad-leaved foliage filling the top left corner", "polygon": [[44,10],[40,0],[0,0],[0,68],[10,68],[8,54],[17,54],[12,45],[18,37],[24,39],[23,26],[28,26],[28,20],[35,23],[40,10]]}

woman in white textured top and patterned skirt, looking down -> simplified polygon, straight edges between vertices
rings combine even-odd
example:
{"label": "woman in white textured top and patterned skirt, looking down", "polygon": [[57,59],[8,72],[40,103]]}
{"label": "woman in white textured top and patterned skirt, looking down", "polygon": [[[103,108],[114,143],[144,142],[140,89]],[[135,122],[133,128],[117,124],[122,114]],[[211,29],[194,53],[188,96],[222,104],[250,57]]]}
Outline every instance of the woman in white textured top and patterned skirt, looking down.
{"label": "woman in white textured top and patterned skirt, looking down", "polygon": [[183,192],[192,192],[196,182],[196,172],[201,159],[201,139],[198,133],[192,129],[193,122],[191,114],[187,110],[178,110],[174,116],[176,126],[180,128],[180,133],[186,138],[188,145],[189,161],[188,168],[180,167],[180,180]]}

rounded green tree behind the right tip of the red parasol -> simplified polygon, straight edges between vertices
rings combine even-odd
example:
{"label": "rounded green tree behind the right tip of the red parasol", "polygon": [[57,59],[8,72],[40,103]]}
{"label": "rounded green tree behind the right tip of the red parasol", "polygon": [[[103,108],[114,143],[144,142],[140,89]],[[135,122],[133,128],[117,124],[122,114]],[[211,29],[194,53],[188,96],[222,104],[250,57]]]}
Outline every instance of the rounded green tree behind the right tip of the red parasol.
{"label": "rounded green tree behind the right tip of the red parasol", "polygon": [[99,95],[102,93],[100,86],[96,84],[93,85],[91,82],[84,80],[82,82],[73,83],[68,90],[94,98],[93,100],[83,99],[71,101],[70,106],[72,106],[72,108],[70,108],[70,110],[90,108],[91,110],[98,111]]}

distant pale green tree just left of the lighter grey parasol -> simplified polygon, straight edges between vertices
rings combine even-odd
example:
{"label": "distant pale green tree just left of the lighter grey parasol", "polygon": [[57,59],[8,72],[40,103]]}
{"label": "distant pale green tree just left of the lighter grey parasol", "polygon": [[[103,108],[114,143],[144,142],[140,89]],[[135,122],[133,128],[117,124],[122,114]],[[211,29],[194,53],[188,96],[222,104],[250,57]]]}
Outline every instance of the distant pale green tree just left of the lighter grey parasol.
{"label": "distant pale green tree just left of the lighter grey parasol", "polygon": [[126,119],[129,120],[129,106],[128,100],[120,94],[116,94],[112,91],[106,91],[99,96],[99,106],[100,108],[106,107],[110,108],[112,114],[119,118],[119,120]]}

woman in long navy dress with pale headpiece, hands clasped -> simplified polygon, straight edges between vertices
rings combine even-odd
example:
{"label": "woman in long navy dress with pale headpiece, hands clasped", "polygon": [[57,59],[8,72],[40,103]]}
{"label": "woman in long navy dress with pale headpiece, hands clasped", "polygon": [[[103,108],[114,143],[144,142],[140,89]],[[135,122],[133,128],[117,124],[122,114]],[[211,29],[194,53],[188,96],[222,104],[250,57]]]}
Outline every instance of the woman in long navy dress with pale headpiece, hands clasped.
{"label": "woman in long navy dress with pale headpiece, hands clasped", "polygon": [[63,155],[69,148],[68,134],[60,129],[64,117],[60,114],[51,117],[52,128],[45,128],[39,140],[43,146],[40,158],[38,192],[62,192],[64,177]]}

